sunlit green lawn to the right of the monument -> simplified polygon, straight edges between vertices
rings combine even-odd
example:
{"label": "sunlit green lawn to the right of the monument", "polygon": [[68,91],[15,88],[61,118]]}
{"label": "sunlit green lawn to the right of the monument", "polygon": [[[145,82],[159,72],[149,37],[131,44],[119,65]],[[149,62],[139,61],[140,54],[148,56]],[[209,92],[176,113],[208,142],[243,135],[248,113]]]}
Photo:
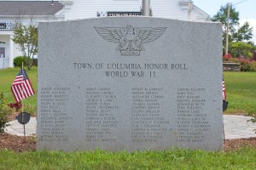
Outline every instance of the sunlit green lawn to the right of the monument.
{"label": "sunlit green lawn to the right of the monument", "polygon": [[256,72],[224,72],[226,113],[256,114]]}

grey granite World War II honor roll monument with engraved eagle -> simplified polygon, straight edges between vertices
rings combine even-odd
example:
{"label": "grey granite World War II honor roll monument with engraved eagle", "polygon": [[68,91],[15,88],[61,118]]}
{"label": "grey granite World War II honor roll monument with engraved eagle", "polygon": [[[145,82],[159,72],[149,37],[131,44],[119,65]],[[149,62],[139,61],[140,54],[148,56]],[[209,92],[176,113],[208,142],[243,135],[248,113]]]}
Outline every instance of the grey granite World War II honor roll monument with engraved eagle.
{"label": "grey granite World War II honor roll monument with engraved eagle", "polygon": [[222,150],[222,26],[39,23],[38,150]]}

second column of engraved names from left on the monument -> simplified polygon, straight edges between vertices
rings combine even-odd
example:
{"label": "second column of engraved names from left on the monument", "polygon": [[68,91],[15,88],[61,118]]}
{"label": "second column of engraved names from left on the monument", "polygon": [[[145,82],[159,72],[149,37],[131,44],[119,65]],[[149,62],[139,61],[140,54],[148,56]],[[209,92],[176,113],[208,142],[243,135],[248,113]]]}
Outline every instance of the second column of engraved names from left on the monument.
{"label": "second column of engraved names from left on the monument", "polygon": [[117,128],[115,110],[119,109],[117,96],[111,88],[86,88],[84,101],[85,137],[87,142],[116,142],[113,130]]}

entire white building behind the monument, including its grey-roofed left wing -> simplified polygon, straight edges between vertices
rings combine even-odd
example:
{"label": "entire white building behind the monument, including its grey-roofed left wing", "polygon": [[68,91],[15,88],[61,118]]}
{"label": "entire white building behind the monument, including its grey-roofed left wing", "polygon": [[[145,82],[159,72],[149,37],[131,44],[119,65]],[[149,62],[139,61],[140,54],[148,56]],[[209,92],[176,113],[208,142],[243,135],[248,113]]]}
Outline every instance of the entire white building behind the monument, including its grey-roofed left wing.
{"label": "entire white building behind the monument, including its grey-roofed left wing", "polygon": [[[208,14],[191,0],[151,0],[153,17],[174,20],[206,21]],[[13,59],[21,55],[12,41],[17,20],[24,25],[40,21],[78,20],[115,14],[140,14],[142,0],[0,0],[0,69],[13,67]]]}

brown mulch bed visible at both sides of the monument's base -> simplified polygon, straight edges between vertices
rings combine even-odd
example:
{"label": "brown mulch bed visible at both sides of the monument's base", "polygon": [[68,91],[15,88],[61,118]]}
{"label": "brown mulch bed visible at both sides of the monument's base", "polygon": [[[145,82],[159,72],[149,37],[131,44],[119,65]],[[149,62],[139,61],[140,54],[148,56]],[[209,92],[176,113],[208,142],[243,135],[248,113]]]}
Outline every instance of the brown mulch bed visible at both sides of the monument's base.
{"label": "brown mulch bed visible at both sides of the monument's base", "polygon": [[[36,150],[36,139],[28,136],[15,136],[9,133],[0,133],[0,150],[14,150],[16,152]],[[256,138],[250,139],[226,139],[224,141],[224,151],[235,151],[242,147],[249,146],[256,148]]]}

